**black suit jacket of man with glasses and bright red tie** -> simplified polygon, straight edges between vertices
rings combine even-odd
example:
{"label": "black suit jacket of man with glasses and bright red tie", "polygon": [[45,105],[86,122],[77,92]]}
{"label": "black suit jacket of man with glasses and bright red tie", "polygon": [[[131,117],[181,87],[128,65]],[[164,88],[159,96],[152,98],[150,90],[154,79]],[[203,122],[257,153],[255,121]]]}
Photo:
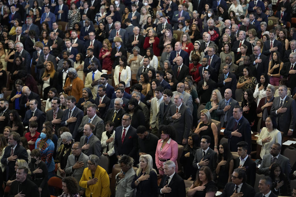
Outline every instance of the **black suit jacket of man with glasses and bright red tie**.
{"label": "black suit jacket of man with glasses and bright red tie", "polygon": [[136,129],[130,126],[129,130],[125,131],[125,138],[121,143],[123,127],[117,127],[114,137],[114,150],[115,155],[129,155],[134,158],[135,161],[138,158],[138,135]]}

